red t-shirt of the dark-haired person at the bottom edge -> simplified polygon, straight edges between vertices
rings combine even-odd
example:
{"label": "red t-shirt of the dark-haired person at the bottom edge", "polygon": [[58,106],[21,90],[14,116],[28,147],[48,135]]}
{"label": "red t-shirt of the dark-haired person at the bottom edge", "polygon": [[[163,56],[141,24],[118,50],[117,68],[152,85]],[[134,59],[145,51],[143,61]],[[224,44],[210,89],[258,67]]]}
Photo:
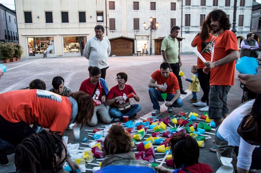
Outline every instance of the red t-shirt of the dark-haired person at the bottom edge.
{"label": "red t-shirt of the dark-haired person at the bottom edge", "polygon": [[[191,173],[212,173],[212,172],[214,172],[213,169],[205,163],[198,163],[198,164],[194,164],[192,166],[186,166],[185,169],[189,170]],[[186,173],[186,172],[179,170],[177,173]]]}

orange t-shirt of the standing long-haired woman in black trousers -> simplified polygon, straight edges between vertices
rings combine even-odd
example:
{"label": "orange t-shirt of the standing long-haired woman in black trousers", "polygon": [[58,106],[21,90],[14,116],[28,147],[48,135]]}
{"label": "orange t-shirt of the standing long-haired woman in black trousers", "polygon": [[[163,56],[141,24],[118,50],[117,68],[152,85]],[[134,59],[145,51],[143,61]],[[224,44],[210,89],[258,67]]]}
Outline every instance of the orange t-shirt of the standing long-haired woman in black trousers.
{"label": "orange t-shirt of the standing long-haired woman in black trousers", "polygon": [[[196,36],[194,41],[192,42],[193,46],[197,46],[199,53],[201,53],[205,49],[204,52],[201,53],[201,55],[203,56],[203,58],[205,58],[206,61],[211,61],[211,43],[216,38],[217,38],[216,36],[209,34],[209,38],[206,39],[204,42],[202,42],[200,36]],[[203,61],[200,58],[198,58],[197,66],[198,66],[198,69],[202,69],[205,67]]]}

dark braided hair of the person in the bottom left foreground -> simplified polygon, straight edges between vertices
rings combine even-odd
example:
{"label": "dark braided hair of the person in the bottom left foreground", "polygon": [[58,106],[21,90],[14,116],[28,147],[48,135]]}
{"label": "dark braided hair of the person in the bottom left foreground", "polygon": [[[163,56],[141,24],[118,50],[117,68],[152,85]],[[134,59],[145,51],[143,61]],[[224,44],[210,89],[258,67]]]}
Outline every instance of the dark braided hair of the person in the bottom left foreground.
{"label": "dark braided hair of the person in the bottom left foreground", "polygon": [[[61,158],[64,150],[65,158]],[[55,154],[63,159],[60,163],[57,163]],[[67,150],[62,137],[45,130],[30,135],[15,149],[16,169],[29,170],[32,173],[41,172],[41,170],[57,172],[57,168],[62,166],[66,158]]]}

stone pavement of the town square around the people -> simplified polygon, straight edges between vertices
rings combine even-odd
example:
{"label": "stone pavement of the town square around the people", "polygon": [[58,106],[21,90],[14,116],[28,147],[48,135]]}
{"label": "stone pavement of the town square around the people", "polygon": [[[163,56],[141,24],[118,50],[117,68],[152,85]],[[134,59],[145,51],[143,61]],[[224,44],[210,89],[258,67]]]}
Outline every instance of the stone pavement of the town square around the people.
{"label": "stone pavement of the town square around the people", "polygon": [[[184,72],[185,76],[191,78],[191,66],[197,64],[197,57],[194,54],[182,54],[182,67],[181,70]],[[148,83],[151,79],[151,74],[159,69],[162,62],[161,55],[153,56],[128,56],[128,57],[110,57],[108,59],[110,67],[106,74],[106,82],[109,88],[117,84],[115,78],[116,73],[126,72],[128,75],[127,84],[132,85],[137,95],[140,97],[141,111],[132,120],[138,119],[140,116],[149,116],[152,111],[152,103],[150,101],[148,93]],[[36,78],[40,78],[46,83],[46,89],[50,89],[52,78],[55,76],[62,76],[65,79],[65,86],[68,86],[72,91],[78,91],[80,84],[83,80],[89,77],[87,70],[88,60],[84,57],[69,57],[69,58],[37,58],[37,59],[22,59],[21,61],[15,63],[6,64],[8,71],[4,74],[4,77],[0,79],[0,93],[17,90],[20,88],[28,87],[29,83]],[[231,112],[240,103],[242,98],[242,89],[240,88],[240,82],[237,80],[238,72],[235,74],[235,85],[232,86],[228,94],[228,108]],[[187,90],[189,82],[182,78],[183,89]],[[191,92],[190,92],[191,93]],[[198,92],[199,99],[203,95],[203,92]],[[172,115],[178,112],[195,112],[200,113],[198,108],[194,107],[190,103],[190,98],[192,96],[182,95],[184,105],[181,108],[174,108]],[[135,102],[132,100],[132,102]],[[133,103],[132,103],[133,104]],[[163,104],[163,102],[162,102]],[[164,108],[164,106],[163,106]],[[165,109],[162,109],[165,111]],[[149,114],[147,114],[149,113]],[[146,115],[147,114],[147,115]],[[169,115],[168,112],[163,112],[158,118],[166,117]],[[104,125],[101,121],[98,122],[96,127]],[[88,127],[85,125],[81,129],[82,140],[86,137],[88,140],[91,137],[87,136],[87,132],[84,129],[93,129],[94,127]],[[75,140],[73,131],[66,130],[64,135],[69,137],[68,143],[81,143],[81,140]],[[214,138],[213,135],[211,135]],[[215,171],[220,166],[217,161],[216,153],[210,152],[212,147],[212,139],[205,141],[205,146],[200,148],[200,158],[199,162],[209,164]],[[80,144],[80,147],[85,147]],[[158,155],[156,158],[162,158],[163,155]],[[10,160],[10,165],[0,166],[0,172],[14,171],[14,154],[8,156]],[[94,160],[93,163],[96,161]],[[165,164],[163,164],[165,165]],[[165,165],[166,166],[166,165]],[[86,166],[87,168],[88,166]]]}

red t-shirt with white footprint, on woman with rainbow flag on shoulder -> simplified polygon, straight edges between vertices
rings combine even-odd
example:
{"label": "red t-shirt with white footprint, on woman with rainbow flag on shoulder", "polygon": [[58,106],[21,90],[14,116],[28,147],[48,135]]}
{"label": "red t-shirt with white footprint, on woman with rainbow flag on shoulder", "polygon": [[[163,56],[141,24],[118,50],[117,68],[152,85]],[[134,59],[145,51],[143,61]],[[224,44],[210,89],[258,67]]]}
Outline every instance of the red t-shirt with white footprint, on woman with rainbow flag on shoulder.
{"label": "red t-shirt with white footprint, on woman with rainbow flag on shoulder", "polygon": [[[91,83],[91,78],[85,79],[84,81],[82,81],[79,91],[84,91],[87,94],[92,95],[96,85],[97,83],[96,84]],[[97,100],[101,100],[103,91],[104,90],[102,88],[102,84],[99,82],[97,90],[95,91],[92,97],[94,102],[96,102]]]}

